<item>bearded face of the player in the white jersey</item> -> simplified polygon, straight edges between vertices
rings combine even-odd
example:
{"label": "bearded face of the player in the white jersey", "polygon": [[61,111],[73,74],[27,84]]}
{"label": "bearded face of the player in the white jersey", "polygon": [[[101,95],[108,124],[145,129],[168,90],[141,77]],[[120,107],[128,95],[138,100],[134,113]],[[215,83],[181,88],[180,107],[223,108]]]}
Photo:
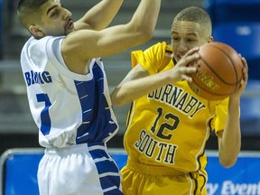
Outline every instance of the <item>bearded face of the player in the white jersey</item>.
{"label": "bearded face of the player in the white jersey", "polygon": [[74,31],[69,10],[60,5],[60,0],[49,0],[40,9],[42,14],[40,28],[44,35],[67,35]]}

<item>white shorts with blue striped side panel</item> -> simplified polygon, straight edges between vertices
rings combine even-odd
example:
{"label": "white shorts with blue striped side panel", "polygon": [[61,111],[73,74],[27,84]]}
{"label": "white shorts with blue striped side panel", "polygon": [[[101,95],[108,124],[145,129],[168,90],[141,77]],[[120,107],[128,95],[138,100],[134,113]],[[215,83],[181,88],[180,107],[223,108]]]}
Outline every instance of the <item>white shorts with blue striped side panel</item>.
{"label": "white shorts with blue striped side panel", "polygon": [[123,194],[121,175],[103,143],[46,149],[37,177],[41,195]]}

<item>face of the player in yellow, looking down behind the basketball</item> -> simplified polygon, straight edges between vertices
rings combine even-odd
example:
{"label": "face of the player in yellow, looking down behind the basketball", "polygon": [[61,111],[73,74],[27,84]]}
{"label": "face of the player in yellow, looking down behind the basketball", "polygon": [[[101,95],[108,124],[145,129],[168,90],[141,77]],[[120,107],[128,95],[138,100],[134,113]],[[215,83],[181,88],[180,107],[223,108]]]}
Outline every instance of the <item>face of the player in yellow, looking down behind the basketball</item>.
{"label": "face of the player in yellow, looking down behind the basketball", "polygon": [[172,23],[172,51],[179,61],[190,49],[208,42],[200,23],[177,21]]}

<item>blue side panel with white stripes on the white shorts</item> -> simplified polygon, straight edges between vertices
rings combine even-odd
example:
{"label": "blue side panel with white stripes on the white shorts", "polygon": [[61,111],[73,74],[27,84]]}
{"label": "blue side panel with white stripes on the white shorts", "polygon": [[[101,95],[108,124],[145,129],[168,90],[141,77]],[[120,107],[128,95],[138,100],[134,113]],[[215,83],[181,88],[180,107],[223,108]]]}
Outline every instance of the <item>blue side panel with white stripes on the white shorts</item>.
{"label": "blue side panel with white stripes on the white shorts", "polygon": [[115,161],[107,154],[105,150],[99,148],[95,149],[95,145],[93,148],[94,149],[92,149],[91,146],[88,147],[89,153],[96,164],[99,181],[102,189],[104,190],[104,194],[123,195],[123,192],[119,190],[121,178]]}

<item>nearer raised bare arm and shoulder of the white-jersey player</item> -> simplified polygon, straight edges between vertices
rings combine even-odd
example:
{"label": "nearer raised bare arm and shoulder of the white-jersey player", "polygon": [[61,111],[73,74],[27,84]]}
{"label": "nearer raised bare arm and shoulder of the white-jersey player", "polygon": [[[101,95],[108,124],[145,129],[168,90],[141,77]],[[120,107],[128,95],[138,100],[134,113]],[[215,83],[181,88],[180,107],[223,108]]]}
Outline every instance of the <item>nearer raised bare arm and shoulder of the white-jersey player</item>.
{"label": "nearer raised bare arm and shoulder of the white-jersey player", "polygon": [[[61,52],[70,70],[84,73],[89,59],[125,51],[153,37],[161,0],[141,0],[129,23],[102,31],[71,32],[62,42]],[[77,67],[75,67],[75,64]]]}

